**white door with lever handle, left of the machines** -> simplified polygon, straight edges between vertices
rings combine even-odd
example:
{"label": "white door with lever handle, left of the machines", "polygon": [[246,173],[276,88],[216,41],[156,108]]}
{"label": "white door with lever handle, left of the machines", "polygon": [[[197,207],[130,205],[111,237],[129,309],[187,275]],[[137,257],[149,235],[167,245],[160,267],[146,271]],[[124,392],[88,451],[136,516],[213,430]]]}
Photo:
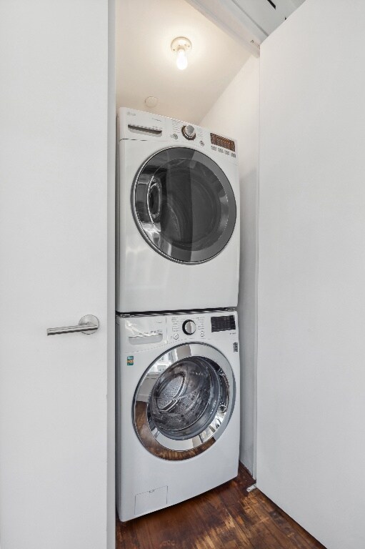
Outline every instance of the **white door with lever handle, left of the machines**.
{"label": "white door with lever handle, left of the machines", "polygon": [[[1,549],[103,549],[108,1],[1,1],[0,51]],[[92,335],[47,337],[86,314]]]}

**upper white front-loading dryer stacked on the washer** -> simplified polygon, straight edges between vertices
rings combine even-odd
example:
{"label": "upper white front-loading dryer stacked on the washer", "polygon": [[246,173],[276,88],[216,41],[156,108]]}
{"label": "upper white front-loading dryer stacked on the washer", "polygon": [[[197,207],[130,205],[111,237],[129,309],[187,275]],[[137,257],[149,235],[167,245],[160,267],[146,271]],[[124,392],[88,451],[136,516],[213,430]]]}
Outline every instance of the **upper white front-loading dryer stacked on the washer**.
{"label": "upper white front-loading dryer stacked on the washer", "polygon": [[119,312],[236,307],[236,142],[119,109]]}

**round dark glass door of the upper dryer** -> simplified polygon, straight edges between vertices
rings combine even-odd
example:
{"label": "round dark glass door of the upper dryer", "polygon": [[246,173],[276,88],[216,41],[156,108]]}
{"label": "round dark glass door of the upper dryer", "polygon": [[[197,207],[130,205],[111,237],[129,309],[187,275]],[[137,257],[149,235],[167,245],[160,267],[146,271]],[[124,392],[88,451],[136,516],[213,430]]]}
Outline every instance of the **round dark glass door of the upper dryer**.
{"label": "round dark glass door of the upper dryer", "polygon": [[139,170],[131,196],[146,242],[176,262],[208,261],[226,246],[236,223],[236,201],[226,174],[188,147],[170,147]]}

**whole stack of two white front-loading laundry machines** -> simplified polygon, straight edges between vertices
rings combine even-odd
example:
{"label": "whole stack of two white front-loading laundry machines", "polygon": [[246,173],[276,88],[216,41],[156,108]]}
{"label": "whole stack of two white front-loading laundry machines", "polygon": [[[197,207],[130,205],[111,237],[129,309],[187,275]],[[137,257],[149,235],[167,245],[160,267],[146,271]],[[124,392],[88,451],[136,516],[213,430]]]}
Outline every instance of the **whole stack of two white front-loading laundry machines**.
{"label": "whole stack of two white front-loading laundry machines", "polygon": [[116,477],[121,520],[239,465],[236,142],[119,109]]}

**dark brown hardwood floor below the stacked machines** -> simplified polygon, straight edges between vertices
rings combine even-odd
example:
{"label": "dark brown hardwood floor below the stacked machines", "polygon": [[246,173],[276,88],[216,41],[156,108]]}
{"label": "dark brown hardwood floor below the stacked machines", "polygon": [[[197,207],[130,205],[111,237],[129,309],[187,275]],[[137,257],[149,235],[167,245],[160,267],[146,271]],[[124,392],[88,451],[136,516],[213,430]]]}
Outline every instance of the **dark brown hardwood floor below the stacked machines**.
{"label": "dark brown hardwood floor below the stacked machines", "polygon": [[128,523],[116,549],[325,549],[259,490],[240,466],[231,482]]}

